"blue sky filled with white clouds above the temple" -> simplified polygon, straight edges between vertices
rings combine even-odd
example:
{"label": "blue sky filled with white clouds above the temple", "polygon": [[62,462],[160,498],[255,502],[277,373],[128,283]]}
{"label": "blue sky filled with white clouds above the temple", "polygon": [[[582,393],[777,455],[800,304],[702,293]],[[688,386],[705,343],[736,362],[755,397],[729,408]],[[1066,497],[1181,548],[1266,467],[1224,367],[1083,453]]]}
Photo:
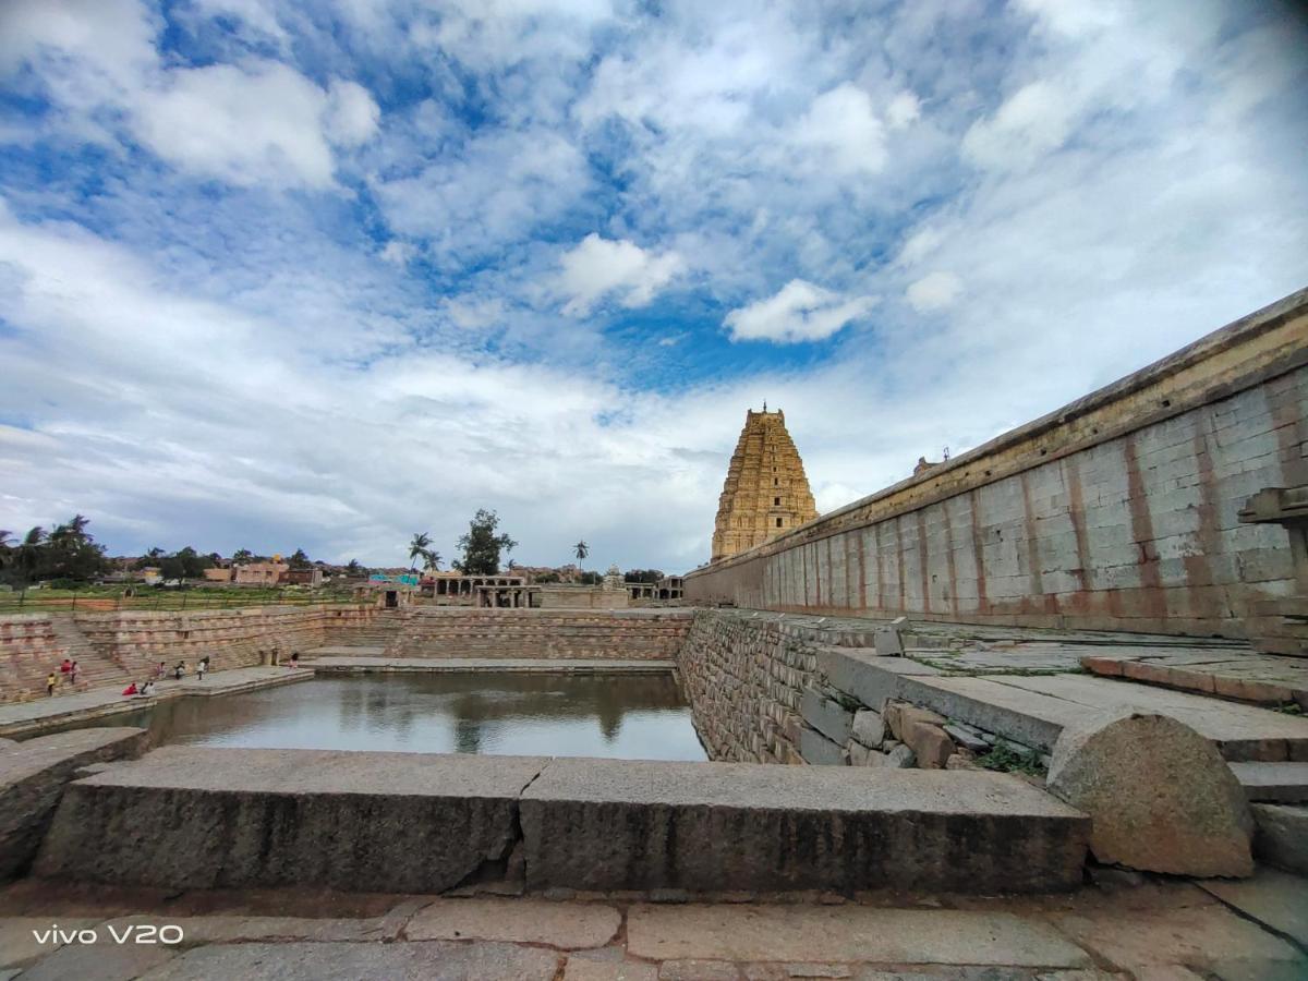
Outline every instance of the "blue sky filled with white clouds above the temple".
{"label": "blue sky filled with white clouds above the temple", "polygon": [[0,527],[708,560],[1308,285],[1308,26],[1219,0],[0,0]]}

